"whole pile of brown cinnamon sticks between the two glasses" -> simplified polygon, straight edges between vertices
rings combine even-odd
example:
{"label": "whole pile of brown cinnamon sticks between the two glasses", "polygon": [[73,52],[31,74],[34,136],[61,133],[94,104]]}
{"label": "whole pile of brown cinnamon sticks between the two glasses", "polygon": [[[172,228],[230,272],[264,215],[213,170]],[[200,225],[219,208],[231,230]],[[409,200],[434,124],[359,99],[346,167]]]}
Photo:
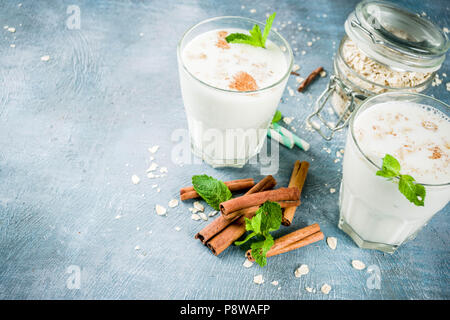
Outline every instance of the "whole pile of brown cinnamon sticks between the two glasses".
{"label": "whole pile of brown cinnamon sticks between the two glasses", "polygon": [[[296,161],[287,188],[273,189],[277,182],[271,175],[257,184],[253,179],[227,181],[230,191],[250,188],[243,196],[230,199],[220,204],[221,215],[200,230],[195,238],[206,245],[214,255],[221,254],[238,240],[244,233],[245,218],[251,219],[259,207],[266,201],[274,201],[283,208],[282,224],[289,226],[296,208],[300,205],[300,195],[306,180],[309,163]],[[199,195],[193,187],[180,190],[181,200],[197,198]],[[323,233],[317,224],[294,231],[275,240],[275,244],[267,253],[267,257],[288,252],[323,239]],[[250,260],[251,252],[247,252]]]}

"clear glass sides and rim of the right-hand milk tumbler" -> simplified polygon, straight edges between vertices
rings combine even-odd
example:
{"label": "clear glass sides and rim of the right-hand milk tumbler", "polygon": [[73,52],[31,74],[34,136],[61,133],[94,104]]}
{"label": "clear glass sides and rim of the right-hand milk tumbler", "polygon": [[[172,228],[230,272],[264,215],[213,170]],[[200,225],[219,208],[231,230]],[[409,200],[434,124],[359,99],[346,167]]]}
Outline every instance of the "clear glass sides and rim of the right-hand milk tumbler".
{"label": "clear glass sides and rim of the right-hand milk tumbler", "polygon": [[[405,199],[392,181],[376,176],[380,164],[369,159],[355,138],[355,120],[365,110],[389,101],[409,101],[441,111],[449,119],[450,106],[418,93],[383,93],[365,100],[350,120],[339,195],[339,228],[361,248],[393,253],[416,234],[450,201],[450,181],[423,184],[425,206]],[[449,133],[450,134],[450,133]]]}

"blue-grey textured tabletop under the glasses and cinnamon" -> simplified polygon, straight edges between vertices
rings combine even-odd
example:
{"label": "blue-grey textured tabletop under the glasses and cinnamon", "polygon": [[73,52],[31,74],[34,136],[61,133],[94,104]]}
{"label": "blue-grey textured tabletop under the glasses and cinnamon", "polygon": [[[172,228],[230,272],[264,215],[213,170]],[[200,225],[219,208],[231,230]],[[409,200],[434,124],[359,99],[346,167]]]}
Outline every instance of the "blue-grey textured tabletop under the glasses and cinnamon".
{"label": "blue-grey textured tabletop under the glasses and cinnamon", "polygon": [[[329,192],[339,187],[342,162],[334,159],[345,133],[326,143],[304,129],[357,1],[18,3],[0,2],[0,27],[16,28],[15,33],[0,28],[0,298],[450,298],[449,206],[393,255],[357,248],[338,230],[338,192]],[[450,27],[448,1],[402,3]],[[71,4],[81,9],[80,30],[66,27]],[[250,13],[253,8],[256,12]],[[280,105],[285,115],[295,117],[293,125],[312,148],[307,153],[281,149],[280,185],[287,184],[296,159],[310,161],[311,169],[293,227],[278,234],[318,222],[326,236],[338,238],[338,248],[316,243],[271,258],[264,269],[245,269],[239,248],[218,258],[193,239],[205,222],[190,219],[191,201],[170,209],[167,217],[157,216],[154,206],[177,198],[193,174],[260,179],[258,165],[216,170],[170,160],[170,135],[186,128],[176,44],[188,27],[205,18],[264,20],[273,11],[281,34],[297,42],[292,47],[298,48],[295,60],[302,76],[319,65],[328,72],[304,94],[286,92]],[[297,31],[297,23],[303,31]],[[318,36],[312,47],[306,45]],[[307,53],[299,54],[302,50]],[[41,61],[43,55],[50,61]],[[450,76],[449,59],[442,72]],[[448,103],[447,81],[428,94]],[[292,77],[289,86],[296,85]],[[147,148],[156,144],[161,148],[155,161],[169,173],[150,180],[145,177]],[[140,184],[131,183],[132,174],[141,177]],[[151,187],[155,183],[161,192]],[[352,259],[379,266],[381,289],[366,286],[370,274],[353,269]],[[295,278],[302,263],[310,273]],[[82,270],[78,290],[66,285],[71,265]],[[266,282],[258,286],[253,276],[260,273]],[[273,280],[280,290],[270,284]],[[327,296],[319,292],[325,282],[332,286]],[[318,293],[308,293],[305,286]]]}

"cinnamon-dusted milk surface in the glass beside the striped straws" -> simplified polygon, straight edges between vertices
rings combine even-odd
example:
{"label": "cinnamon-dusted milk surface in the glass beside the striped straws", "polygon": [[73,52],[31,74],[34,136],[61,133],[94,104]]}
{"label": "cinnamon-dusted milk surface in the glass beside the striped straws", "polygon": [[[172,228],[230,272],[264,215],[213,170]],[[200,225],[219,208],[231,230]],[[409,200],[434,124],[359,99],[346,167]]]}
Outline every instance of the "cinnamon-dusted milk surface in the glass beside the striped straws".
{"label": "cinnamon-dusted milk surface in the glass beside the striped straws", "polygon": [[192,39],[183,49],[182,60],[199,80],[220,89],[254,91],[281,80],[287,63],[281,49],[266,41],[266,48],[228,43],[230,33],[241,29],[213,30]]}

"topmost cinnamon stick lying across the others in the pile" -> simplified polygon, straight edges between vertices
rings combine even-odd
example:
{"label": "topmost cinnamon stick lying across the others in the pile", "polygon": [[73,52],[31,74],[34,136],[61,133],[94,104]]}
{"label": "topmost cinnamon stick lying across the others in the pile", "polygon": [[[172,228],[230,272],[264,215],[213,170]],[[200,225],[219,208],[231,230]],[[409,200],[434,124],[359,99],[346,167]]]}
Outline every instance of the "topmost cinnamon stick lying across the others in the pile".
{"label": "topmost cinnamon stick lying across the others in the pile", "polygon": [[282,208],[298,206],[300,204],[300,190],[297,187],[279,188],[243,195],[242,197],[222,202],[220,211],[225,218],[232,219],[237,215],[236,211],[259,206],[266,201],[278,202]]}

